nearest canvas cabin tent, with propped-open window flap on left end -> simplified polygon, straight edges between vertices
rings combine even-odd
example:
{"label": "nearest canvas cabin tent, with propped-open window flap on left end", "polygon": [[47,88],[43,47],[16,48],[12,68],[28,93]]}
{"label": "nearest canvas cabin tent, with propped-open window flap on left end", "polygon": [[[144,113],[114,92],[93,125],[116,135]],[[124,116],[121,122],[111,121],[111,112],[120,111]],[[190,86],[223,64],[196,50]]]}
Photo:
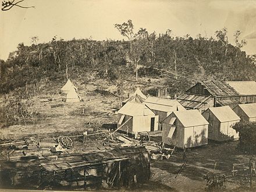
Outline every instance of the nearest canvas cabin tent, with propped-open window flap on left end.
{"label": "nearest canvas cabin tent, with propped-open window flap on left end", "polygon": [[207,144],[208,124],[198,110],[173,111],[162,121],[162,142],[179,148]]}

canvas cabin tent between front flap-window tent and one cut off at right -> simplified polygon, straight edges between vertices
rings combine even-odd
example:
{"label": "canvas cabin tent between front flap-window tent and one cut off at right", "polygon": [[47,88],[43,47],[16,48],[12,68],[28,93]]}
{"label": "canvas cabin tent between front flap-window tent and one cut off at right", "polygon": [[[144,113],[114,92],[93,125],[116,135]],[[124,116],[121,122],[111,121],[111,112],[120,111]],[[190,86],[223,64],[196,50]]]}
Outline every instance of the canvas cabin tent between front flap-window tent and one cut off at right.
{"label": "canvas cabin tent between front flap-window tent and one cut off at right", "polygon": [[232,126],[239,122],[240,118],[229,106],[210,107],[202,113],[202,116],[209,122],[209,139],[222,142],[239,138],[239,133]]}

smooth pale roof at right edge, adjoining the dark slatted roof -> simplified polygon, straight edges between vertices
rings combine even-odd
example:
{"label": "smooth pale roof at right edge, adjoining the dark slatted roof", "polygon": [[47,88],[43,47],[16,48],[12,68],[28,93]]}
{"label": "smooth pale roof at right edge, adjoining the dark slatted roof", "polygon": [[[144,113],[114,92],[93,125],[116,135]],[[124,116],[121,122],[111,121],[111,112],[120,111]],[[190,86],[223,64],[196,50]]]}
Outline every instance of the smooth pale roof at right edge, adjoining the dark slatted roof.
{"label": "smooth pale roof at right edge, adjoining the dark slatted roof", "polygon": [[226,81],[240,95],[256,95],[255,81]]}

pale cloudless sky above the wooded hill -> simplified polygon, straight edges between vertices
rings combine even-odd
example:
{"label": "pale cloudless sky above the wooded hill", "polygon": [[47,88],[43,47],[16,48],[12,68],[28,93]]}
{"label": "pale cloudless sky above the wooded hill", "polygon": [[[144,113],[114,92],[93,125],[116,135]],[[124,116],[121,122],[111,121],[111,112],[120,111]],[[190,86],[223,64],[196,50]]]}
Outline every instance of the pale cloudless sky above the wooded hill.
{"label": "pale cloudless sky above the wooded hill", "polygon": [[[17,0],[15,0],[17,2]],[[215,31],[227,28],[233,44],[234,31],[242,31],[248,55],[256,54],[256,1],[246,0],[24,0],[19,5],[0,10],[0,59],[23,42],[31,45],[31,37],[39,42],[57,38],[123,39],[114,27],[131,19],[134,31],[147,28],[149,32],[196,37],[215,37]]]}

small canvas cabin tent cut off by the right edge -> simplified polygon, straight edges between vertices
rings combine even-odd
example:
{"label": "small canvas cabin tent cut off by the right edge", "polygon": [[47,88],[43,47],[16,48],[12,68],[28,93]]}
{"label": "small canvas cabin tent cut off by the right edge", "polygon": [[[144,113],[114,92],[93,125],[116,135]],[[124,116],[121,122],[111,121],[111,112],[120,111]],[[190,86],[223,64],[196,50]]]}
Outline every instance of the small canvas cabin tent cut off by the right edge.
{"label": "small canvas cabin tent cut off by the right edge", "polygon": [[256,121],[256,103],[239,104],[233,111],[243,121]]}

